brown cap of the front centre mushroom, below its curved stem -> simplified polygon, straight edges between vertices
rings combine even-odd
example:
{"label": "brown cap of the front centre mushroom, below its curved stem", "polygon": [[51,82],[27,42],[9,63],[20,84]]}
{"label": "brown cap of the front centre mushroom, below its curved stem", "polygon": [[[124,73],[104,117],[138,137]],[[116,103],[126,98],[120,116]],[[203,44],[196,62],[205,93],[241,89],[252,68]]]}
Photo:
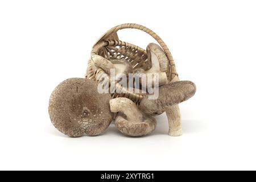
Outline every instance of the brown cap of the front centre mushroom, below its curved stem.
{"label": "brown cap of the front centre mushroom, below its curved stem", "polygon": [[141,121],[127,121],[125,114],[119,112],[115,118],[115,126],[121,133],[131,136],[140,137],[150,134],[155,130],[156,120],[146,114],[143,114]]}

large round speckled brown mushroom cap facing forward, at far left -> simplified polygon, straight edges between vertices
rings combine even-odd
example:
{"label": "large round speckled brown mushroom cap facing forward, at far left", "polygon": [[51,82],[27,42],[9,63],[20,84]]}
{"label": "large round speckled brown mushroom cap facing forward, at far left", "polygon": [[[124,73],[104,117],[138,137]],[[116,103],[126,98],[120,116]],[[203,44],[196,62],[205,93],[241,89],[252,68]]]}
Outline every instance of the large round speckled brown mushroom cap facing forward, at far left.
{"label": "large round speckled brown mushroom cap facing forward, at far left", "polygon": [[49,117],[61,133],[69,137],[101,134],[113,119],[109,94],[97,92],[97,82],[69,78],[53,90],[49,98]]}

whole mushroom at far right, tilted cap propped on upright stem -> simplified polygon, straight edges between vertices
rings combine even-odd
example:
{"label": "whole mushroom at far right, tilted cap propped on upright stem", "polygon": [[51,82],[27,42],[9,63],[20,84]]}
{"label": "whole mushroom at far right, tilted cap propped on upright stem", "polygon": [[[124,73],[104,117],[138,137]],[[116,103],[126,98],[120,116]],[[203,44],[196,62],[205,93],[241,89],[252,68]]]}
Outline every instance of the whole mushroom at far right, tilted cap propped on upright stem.
{"label": "whole mushroom at far right, tilted cap propped on upright stem", "polygon": [[[143,98],[139,109],[147,114],[165,110],[169,123],[169,135],[182,134],[179,107],[177,104],[191,98],[196,92],[196,85],[191,81],[176,81],[159,88],[159,97],[156,100]],[[176,107],[174,107],[176,106]]]}

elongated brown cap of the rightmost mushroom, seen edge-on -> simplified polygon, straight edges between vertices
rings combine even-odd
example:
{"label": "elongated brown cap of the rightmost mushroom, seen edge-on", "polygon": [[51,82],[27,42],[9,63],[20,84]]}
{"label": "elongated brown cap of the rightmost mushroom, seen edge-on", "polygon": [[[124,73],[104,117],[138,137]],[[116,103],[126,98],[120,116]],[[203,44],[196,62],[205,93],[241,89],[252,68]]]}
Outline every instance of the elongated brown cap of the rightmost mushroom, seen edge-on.
{"label": "elongated brown cap of the rightmost mushroom, seen edge-on", "polygon": [[196,85],[192,81],[170,82],[159,87],[159,97],[156,100],[148,100],[144,97],[139,104],[139,109],[147,114],[156,113],[188,100],[195,92]]}

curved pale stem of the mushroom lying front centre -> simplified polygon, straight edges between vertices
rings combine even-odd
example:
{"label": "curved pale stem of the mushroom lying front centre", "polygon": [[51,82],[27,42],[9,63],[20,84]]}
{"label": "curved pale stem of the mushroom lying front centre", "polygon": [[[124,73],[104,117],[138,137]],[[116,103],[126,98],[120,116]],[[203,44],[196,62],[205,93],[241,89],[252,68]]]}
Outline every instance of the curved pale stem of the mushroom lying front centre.
{"label": "curved pale stem of the mushroom lying front centre", "polygon": [[113,113],[122,112],[126,115],[127,120],[131,122],[142,121],[142,113],[137,105],[129,98],[119,97],[109,101],[110,111]]}

